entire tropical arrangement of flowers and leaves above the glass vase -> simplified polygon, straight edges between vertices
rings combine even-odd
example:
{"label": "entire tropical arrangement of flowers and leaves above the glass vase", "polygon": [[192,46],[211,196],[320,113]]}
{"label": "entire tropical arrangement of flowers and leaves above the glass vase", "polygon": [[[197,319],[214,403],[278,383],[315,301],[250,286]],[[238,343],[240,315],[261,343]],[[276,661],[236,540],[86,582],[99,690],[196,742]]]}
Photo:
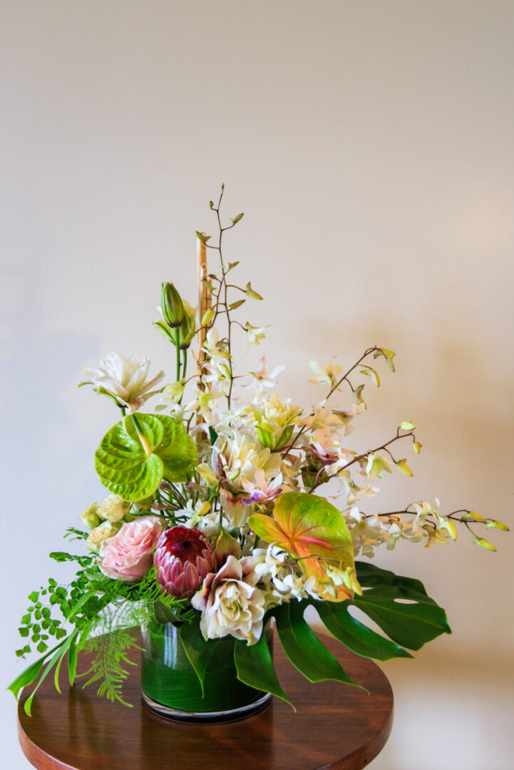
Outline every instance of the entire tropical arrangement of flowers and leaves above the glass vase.
{"label": "entire tropical arrangement of flowers and leaves above the glass vase", "polygon": [[[74,683],[82,650],[94,653],[85,684],[96,682],[100,694],[122,701],[126,653],[137,644],[131,629],[150,620],[179,628],[201,682],[202,650],[231,636],[238,678],[287,700],[263,633],[274,618],[285,653],[306,678],[355,685],[305,621],[309,605],[342,644],[378,660],[411,657],[409,650],[450,632],[445,611],[420,581],[355,557],[369,559],[376,547],[405,540],[446,544],[456,540],[458,525],[494,551],[475,527],[508,529],[475,511],[443,514],[438,500],[376,511],[375,480],[396,470],[412,476],[400,447],[416,454],[422,447],[405,420],[378,446],[364,453],[351,448],[353,423],[366,409],[363,381],[379,387],[377,363],[395,371],[392,350],[372,346],[344,373],[333,359],[326,367],[311,362],[310,381],[323,392],[306,410],[274,390],[284,367],[269,371],[262,357],[255,370],[236,370],[234,334],[259,345],[265,327],[236,318],[247,300],[262,296],[251,283],[232,283],[239,263],[225,262],[222,240],[243,215],[223,226],[222,196],[223,188],[219,202],[209,203],[216,245],[196,233],[202,252],[212,249],[219,257],[218,271],[200,276],[199,313],[172,283],[162,284],[162,317],[154,326],[175,347],[174,381],[163,384],[163,372],[149,379],[146,358],[109,353],[80,383],[120,413],[95,453],[109,494],[65,534],[81,552],[50,554],[75,562],[71,584],[51,578],[28,597],[19,628],[24,644],[16,654],[25,658],[35,647],[42,657],[10,686],[18,696],[38,681],[28,713],[52,669],[59,688],[66,655]],[[192,353],[195,336],[199,346]],[[151,399],[155,411],[143,412]],[[332,502],[323,496],[328,493]],[[356,620],[352,606],[374,628]]]}

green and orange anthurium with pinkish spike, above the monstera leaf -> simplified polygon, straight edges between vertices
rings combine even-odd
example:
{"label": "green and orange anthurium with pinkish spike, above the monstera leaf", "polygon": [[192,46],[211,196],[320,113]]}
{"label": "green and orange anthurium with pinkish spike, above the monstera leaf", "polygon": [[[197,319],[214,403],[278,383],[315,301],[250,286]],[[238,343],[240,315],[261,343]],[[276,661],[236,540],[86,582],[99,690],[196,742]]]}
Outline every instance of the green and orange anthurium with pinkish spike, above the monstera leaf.
{"label": "green and orange anthurium with pinkish spike, above the monstera leaf", "polygon": [[359,591],[353,562],[352,536],[345,517],[333,505],[315,494],[286,492],[275,502],[273,517],[254,514],[249,518],[252,530],[268,543],[275,543],[299,559],[307,577],[315,578],[316,590],[328,601],[352,598],[353,590],[345,584],[334,596],[328,588],[327,571],[349,568],[353,588]]}

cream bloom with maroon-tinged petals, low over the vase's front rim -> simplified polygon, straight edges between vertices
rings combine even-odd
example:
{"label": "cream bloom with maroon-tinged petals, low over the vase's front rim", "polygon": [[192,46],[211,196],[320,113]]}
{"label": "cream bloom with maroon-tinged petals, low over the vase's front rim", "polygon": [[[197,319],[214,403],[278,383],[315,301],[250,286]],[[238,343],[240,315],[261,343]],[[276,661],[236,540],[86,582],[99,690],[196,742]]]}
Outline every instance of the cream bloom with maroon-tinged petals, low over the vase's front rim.
{"label": "cream bloom with maroon-tinged petals, low over the vase's front rim", "polygon": [[229,634],[249,644],[259,641],[265,596],[259,588],[245,580],[253,564],[248,557],[238,561],[229,556],[217,574],[208,574],[202,590],[191,604],[202,611],[200,628],[205,639],[218,639]]}

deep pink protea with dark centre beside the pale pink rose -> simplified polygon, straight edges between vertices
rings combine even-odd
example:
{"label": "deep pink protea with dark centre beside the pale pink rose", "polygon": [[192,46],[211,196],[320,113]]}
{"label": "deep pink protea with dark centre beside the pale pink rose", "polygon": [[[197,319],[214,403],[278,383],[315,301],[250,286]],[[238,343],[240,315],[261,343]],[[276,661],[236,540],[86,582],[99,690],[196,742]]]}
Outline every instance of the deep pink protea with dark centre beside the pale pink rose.
{"label": "deep pink protea with dark centre beside the pale pink rose", "polygon": [[153,563],[159,584],[177,599],[190,599],[204,577],[218,569],[209,541],[198,530],[180,526],[159,537]]}

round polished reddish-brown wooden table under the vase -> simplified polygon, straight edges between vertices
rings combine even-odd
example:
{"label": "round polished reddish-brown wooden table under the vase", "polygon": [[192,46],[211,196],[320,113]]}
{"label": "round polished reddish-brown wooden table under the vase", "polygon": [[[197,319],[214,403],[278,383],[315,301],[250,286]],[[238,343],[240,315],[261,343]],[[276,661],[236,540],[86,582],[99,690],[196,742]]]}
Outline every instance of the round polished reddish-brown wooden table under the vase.
{"label": "round polished reddish-brown wooden table under the vase", "polygon": [[[20,744],[40,770],[360,770],[389,737],[391,686],[372,661],[332,638],[323,641],[368,692],[334,681],[311,685],[279,643],[275,668],[296,713],[273,698],[259,714],[222,725],[187,725],[152,714],[142,704],[139,667],[124,688],[133,708],[98,698],[94,685],[63,688],[59,695],[48,677],[32,703],[32,718],[23,709],[31,688],[20,698]],[[78,670],[87,668],[87,656],[79,656]]]}

